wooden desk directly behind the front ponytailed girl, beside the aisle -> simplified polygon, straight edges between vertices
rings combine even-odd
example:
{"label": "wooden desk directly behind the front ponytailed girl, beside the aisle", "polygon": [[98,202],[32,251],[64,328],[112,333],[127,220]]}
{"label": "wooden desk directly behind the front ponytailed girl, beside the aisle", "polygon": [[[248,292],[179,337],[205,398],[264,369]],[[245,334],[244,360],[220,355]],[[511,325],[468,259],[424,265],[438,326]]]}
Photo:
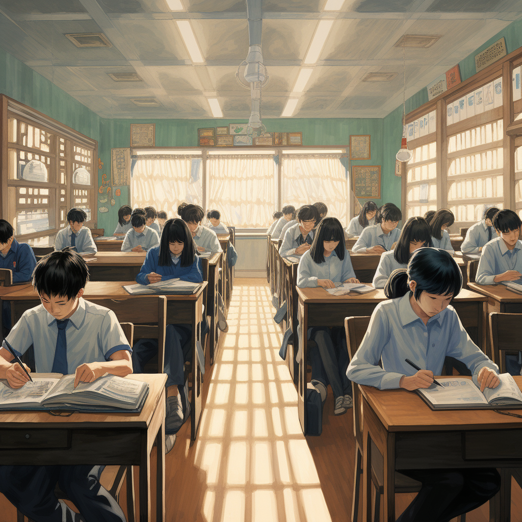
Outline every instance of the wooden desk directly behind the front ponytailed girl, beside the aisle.
{"label": "wooden desk directly behind the front ponytailed girl, beside the aisle", "polygon": [[[306,429],[306,357],[307,331],[313,326],[343,326],[345,317],[372,315],[375,307],[387,298],[382,288],[363,295],[330,295],[324,288],[297,288],[299,296],[299,347],[303,356],[299,364],[298,410],[303,432]],[[482,350],[483,303],[487,299],[470,290],[461,290],[452,302],[462,326]]]}

